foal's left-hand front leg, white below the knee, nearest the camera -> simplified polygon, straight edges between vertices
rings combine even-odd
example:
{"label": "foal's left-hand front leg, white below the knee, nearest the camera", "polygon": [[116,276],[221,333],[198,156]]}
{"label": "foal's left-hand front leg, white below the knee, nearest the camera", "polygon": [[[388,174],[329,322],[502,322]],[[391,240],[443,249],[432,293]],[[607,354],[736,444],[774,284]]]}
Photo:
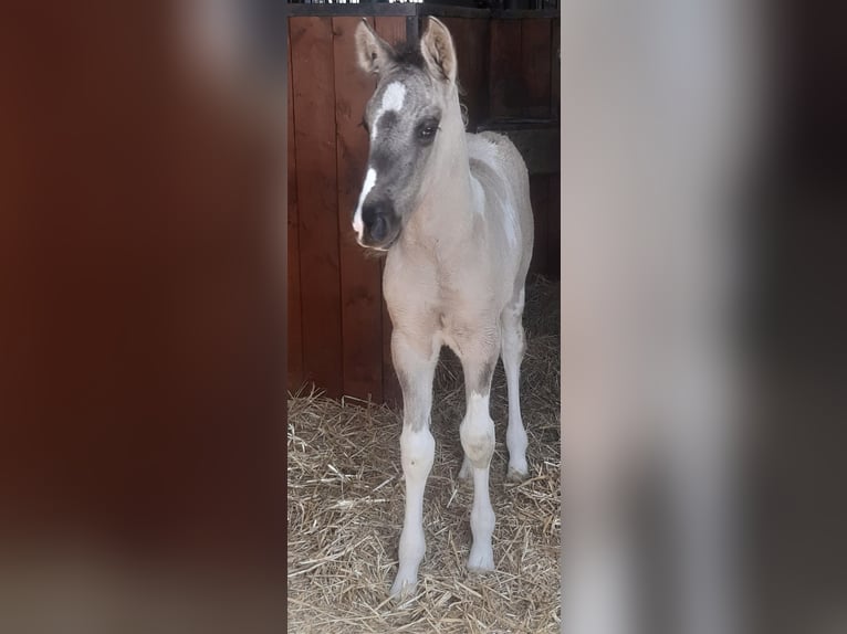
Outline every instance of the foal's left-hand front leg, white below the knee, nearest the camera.
{"label": "foal's left-hand front leg, white below the knee, nearest the camera", "polygon": [[436,441],[429,431],[432,409],[432,378],[440,347],[435,337],[395,330],[391,358],[402,389],[402,434],[400,458],[406,479],[406,514],[400,535],[400,566],[391,596],[410,594],[418,579],[418,566],[426,552],[423,537],[423,489],[427,485]]}

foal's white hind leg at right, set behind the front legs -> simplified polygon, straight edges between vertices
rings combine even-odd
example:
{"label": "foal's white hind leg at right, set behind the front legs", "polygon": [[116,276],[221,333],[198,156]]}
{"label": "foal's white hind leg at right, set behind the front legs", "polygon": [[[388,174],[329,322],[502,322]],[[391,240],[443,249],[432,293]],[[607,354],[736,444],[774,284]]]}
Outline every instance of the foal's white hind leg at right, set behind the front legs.
{"label": "foal's white hind leg at right, set behind the front legs", "polygon": [[509,426],[505,432],[509,447],[509,475],[513,482],[521,482],[530,474],[526,465],[526,430],[521,419],[521,361],[526,349],[523,334],[524,289],[510,303],[500,316],[502,327],[501,355],[505,369],[509,391]]}

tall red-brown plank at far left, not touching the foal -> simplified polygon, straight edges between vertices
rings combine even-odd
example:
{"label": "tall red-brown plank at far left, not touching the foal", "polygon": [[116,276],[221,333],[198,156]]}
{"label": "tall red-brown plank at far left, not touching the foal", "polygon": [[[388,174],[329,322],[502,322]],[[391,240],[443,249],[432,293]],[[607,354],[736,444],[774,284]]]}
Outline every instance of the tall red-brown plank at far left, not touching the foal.
{"label": "tall red-brown plank at far left, not touching the foal", "polygon": [[342,393],[342,309],[332,18],[290,19],[297,163],[303,374]]}

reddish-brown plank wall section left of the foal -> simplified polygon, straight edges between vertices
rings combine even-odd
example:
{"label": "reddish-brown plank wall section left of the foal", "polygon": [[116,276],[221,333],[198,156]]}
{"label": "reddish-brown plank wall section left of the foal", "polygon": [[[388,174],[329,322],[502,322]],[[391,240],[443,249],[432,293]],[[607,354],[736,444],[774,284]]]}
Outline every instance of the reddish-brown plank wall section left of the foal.
{"label": "reddish-brown plank wall section left of the foal", "polygon": [[[406,18],[369,18],[389,42]],[[381,402],[399,397],[381,263],[356,244],[351,215],[367,160],[359,125],[375,81],[356,66],[359,17],[290,20],[289,387]],[[293,131],[293,134],[292,134]]]}

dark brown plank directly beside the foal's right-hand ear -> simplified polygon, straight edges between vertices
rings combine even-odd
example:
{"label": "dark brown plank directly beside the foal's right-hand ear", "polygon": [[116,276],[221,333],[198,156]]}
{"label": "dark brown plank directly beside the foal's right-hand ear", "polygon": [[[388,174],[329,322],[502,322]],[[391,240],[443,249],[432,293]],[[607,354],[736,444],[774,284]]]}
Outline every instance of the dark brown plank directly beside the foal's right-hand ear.
{"label": "dark brown plank directly beside the foal's right-hand ear", "polygon": [[488,117],[488,24],[470,18],[442,18],[450,30],[459,59],[461,102],[468,107],[468,129],[473,130]]}

